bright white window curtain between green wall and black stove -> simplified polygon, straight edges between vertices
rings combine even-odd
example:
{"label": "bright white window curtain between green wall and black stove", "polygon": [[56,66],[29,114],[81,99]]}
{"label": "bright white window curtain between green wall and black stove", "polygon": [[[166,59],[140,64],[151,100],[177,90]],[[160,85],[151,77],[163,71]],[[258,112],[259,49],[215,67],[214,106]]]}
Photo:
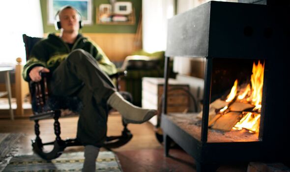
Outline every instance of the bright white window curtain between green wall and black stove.
{"label": "bright white window curtain between green wall and black stove", "polygon": [[143,49],[165,51],[167,20],[174,16],[174,0],[142,0]]}

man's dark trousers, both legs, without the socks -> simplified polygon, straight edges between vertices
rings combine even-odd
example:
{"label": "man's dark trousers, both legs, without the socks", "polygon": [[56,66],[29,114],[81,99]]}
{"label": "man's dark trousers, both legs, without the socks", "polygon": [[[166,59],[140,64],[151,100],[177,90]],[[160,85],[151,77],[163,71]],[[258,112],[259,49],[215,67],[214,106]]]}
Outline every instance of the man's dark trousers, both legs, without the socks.
{"label": "man's dark trousers, both legs, without the socks", "polygon": [[116,88],[98,62],[86,51],[74,50],[54,70],[51,90],[56,96],[77,96],[82,101],[77,138],[84,145],[102,146],[107,133],[107,100]]}

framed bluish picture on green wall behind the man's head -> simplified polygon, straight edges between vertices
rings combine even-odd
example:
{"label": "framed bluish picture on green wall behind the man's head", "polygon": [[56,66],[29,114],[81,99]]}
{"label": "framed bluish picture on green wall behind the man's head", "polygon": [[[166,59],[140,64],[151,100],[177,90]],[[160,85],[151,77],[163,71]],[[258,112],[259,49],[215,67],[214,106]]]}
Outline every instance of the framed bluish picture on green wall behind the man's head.
{"label": "framed bluish picture on green wall behind the man's head", "polygon": [[48,24],[54,24],[58,10],[64,5],[75,7],[85,25],[92,24],[92,0],[48,0]]}

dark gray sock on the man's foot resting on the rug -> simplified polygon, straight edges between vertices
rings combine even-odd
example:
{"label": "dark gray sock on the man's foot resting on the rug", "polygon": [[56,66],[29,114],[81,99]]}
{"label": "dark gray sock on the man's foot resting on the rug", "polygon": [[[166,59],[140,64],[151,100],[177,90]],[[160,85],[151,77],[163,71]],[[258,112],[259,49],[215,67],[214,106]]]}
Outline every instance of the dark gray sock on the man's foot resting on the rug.
{"label": "dark gray sock on the man's foot resting on the rug", "polygon": [[85,162],[82,172],[95,172],[96,159],[98,157],[100,148],[93,145],[85,146]]}

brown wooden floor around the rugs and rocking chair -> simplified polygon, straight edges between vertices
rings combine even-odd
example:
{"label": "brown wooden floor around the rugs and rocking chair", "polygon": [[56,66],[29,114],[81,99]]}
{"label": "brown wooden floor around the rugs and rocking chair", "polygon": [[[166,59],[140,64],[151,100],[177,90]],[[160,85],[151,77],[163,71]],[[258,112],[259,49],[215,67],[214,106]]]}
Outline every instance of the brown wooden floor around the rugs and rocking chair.
{"label": "brown wooden floor around the rugs and rocking chair", "polygon": [[[66,117],[59,119],[61,124],[61,138],[76,136],[78,117]],[[129,130],[133,134],[132,140],[122,147],[113,149],[120,160],[124,172],[196,172],[194,159],[180,148],[170,150],[169,157],[163,156],[163,146],[155,138],[153,126],[145,122],[143,124],[129,124]],[[55,140],[53,120],[40,121],[41,138],[43,142]],[[108,118],[108,136],[120,135],[122,130],[121,117],[111,114]],[[34,138],[34,122],[27,118],[0,119],[0,132],[25,133],[19,154],[30,154],[31,142]],[[68,147],[65,151],[82,151],[83,146]],[[101,149],[104,151],[105,149]],[[221,167],[218,172],[246,172],[246,166]]]}

